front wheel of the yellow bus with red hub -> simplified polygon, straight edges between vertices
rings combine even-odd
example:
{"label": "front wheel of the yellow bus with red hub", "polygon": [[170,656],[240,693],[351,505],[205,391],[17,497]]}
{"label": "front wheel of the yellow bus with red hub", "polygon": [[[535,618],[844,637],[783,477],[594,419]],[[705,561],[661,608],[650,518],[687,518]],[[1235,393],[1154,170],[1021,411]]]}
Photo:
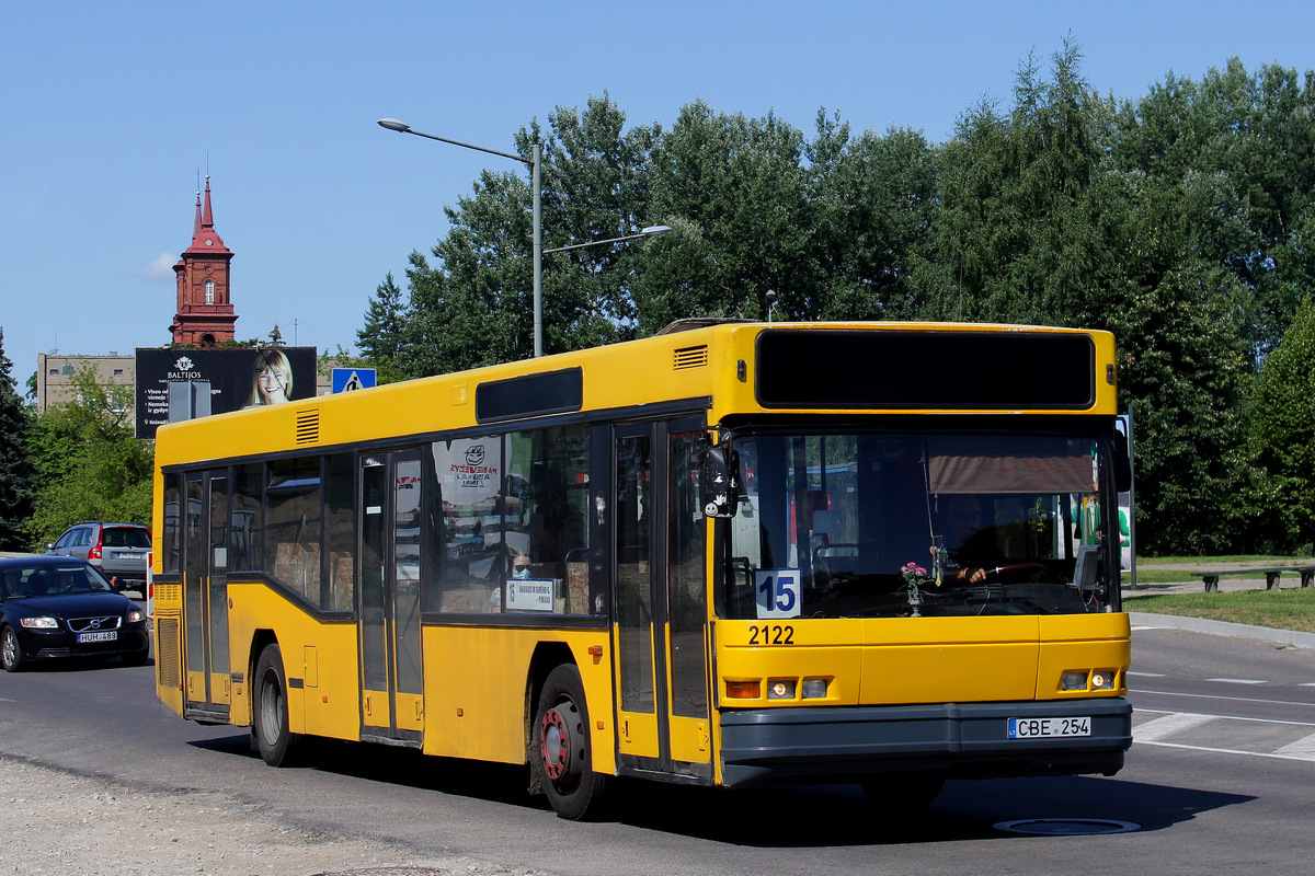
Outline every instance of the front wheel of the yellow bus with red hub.
{"label": "front wheel of the yellow bus with red hub", "polygon": [[558,817],[584,821],[596,814],[608,776],[593,771],[589,711],[573,665],[548,674],[530,733],[535,777]]}

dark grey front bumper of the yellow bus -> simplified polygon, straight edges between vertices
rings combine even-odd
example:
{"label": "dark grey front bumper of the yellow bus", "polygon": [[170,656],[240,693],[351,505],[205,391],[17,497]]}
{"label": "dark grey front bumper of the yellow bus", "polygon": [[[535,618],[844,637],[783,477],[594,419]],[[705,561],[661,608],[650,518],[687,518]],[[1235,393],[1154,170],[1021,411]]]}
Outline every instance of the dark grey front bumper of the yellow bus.
{"label": "dark grey front bumper of the yellow bus", "polygon": [[[1032,735],[1015,730],[1011,738],[1011,718],[1030,721],[1024,729]],[[1082,726],[1082,718],[1089,735],[1035,735],[1039,728]],[[909,775],[1114,775],[1132,745],[1132,705],[1120,697],[727,709],[721,722],[727,787]]]}

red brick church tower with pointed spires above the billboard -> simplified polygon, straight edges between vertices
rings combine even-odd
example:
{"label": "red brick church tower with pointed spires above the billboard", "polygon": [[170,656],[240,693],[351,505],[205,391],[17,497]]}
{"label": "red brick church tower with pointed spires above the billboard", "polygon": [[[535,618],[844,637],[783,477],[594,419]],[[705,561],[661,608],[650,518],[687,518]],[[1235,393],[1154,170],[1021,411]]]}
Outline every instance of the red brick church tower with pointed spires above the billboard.
{"label": "red brick church tower with pointed spires above the billboard", "polygon": [[214,232],[210,213],[210,177],[205,177],[205,208],[196,193],[196,225],[192,246],[174,265],[178,274],[178,313],[174,315],[175,344],[214,347],[233,340],[233,323],[238,320],[229,299],[229,263],[233,251]]}

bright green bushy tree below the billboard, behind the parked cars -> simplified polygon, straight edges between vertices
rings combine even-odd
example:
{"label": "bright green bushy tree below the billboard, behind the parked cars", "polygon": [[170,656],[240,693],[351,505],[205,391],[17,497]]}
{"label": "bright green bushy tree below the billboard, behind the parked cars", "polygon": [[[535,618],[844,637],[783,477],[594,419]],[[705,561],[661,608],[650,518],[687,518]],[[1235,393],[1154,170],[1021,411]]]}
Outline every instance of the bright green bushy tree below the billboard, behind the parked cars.
{"label": "bright green bushy tree below the billboard, behind the parked cars", "polygon": [[150,523],[153,443],[133,436],[133,387],[101,383],[95,369],[71,381],[74,401],[37,418],[30,447],[38,495],[26,533],[50,541],[78,520]]}

